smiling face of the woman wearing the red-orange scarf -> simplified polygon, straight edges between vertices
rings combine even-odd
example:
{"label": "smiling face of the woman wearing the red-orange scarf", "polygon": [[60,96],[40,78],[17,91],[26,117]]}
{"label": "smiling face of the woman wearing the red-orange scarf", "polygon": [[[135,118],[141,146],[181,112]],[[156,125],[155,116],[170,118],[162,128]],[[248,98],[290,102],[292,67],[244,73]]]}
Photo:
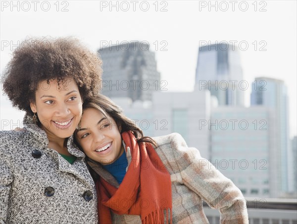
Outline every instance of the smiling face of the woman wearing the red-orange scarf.
{"label": "smiling face of the woman wearing the red-orange scarf", "polygon": [[115,121],[95,108],[84,110],[76,139],[89,158],[103,165],[113,163],[124,152]]}

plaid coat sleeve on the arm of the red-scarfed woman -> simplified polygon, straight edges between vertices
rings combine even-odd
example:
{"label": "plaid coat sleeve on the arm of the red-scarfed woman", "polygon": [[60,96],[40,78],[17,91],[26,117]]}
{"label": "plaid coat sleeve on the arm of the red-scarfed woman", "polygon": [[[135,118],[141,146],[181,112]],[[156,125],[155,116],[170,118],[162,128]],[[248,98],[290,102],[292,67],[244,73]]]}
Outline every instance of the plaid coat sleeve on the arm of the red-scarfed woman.
{"label": "plaid coat sleeve on the arm of the red-scarfed woman", "polygon": [[206,159],[189,148],[180,134],[172,143],[183,183],[210,207],[219,209],[222,224],[248,224],[246,200],[240,189]]}

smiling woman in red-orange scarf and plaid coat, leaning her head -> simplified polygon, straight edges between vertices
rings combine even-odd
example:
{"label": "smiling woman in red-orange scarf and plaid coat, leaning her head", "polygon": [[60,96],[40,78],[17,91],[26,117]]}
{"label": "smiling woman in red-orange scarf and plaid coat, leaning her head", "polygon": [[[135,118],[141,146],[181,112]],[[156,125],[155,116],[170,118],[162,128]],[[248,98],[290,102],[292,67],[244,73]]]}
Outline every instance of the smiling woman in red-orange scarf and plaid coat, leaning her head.
{"label": "smiling woman in red-orange scarf and plaid coat, leaning her head", "polygon": [[109,98],[83,105],[75,139],[97,183],[99,223],[208,223],[202,200],[222,224],[248,224],[246,201],[180,134],[144,137]]}

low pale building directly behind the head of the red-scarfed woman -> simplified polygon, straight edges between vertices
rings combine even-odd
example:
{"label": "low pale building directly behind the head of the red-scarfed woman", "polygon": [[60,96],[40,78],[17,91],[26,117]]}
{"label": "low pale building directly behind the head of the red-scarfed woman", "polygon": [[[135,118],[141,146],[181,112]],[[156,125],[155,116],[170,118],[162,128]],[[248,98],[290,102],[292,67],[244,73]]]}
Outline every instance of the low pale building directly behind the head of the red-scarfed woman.
{"label": "low pale building directly behind the head of the red-scarfed woman", "polygon": [[135,121],[145,135],[160,136],[177,132],[190,147],[209,159],[211,96],[208,90],[194,92],[153,92],[151,104],[112,98]]}

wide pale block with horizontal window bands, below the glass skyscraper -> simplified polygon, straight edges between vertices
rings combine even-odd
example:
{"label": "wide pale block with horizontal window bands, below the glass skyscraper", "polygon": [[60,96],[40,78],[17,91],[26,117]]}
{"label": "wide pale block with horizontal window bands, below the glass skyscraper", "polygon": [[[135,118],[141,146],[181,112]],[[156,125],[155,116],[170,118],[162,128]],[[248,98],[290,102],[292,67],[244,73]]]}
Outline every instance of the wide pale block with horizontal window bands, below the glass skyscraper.
{"label": "wide pale block with horizontal window bands, below the glass skyscraper", "polygon": [[278,197],[274,112],[265,106],[220,106],[211,111],[211,163],[245,197]]}

